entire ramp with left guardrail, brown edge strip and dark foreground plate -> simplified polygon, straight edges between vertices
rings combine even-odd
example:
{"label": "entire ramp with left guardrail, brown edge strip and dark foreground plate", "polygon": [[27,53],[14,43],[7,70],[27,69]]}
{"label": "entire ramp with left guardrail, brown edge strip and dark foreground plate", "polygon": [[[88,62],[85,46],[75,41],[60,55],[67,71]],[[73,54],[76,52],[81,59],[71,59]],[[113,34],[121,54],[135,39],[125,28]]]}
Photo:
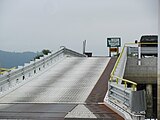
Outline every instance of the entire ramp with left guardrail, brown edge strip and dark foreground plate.
{"label": "entire ramp with left guardrail, brown edge strip and dark foreground plate", "polygon": [[123,120],[102,103],[115,61],[63,47],[4,74],[0,119]]}

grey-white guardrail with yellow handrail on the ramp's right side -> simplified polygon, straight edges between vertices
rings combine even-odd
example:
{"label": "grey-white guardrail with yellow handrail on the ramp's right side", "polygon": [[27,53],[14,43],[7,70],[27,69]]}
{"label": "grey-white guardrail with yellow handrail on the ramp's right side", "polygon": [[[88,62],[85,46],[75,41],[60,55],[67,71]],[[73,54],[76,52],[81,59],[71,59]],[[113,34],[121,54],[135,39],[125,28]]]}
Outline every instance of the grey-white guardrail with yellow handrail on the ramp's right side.
{"label": "grey-white guardrail with yellow handrail on the ramp's right side", "polygon": [[137,91],[137,83],[123,79],[126,61],[127,46],[125,45],[111,72],[104,102],[126,120],[144,120],[144,91]]}

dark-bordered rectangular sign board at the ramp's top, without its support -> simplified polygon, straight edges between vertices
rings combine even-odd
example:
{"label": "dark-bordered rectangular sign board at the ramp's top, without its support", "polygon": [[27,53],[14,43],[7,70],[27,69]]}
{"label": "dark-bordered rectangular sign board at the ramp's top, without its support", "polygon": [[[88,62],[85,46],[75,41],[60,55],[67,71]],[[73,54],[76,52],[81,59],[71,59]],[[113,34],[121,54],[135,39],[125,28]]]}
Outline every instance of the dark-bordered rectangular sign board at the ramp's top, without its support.
{"label": "dark-bordered rectangular sign board at the ramp's top, without its support", "polygon": [[107,38],[107,47],[121,47],[121,38]]}

